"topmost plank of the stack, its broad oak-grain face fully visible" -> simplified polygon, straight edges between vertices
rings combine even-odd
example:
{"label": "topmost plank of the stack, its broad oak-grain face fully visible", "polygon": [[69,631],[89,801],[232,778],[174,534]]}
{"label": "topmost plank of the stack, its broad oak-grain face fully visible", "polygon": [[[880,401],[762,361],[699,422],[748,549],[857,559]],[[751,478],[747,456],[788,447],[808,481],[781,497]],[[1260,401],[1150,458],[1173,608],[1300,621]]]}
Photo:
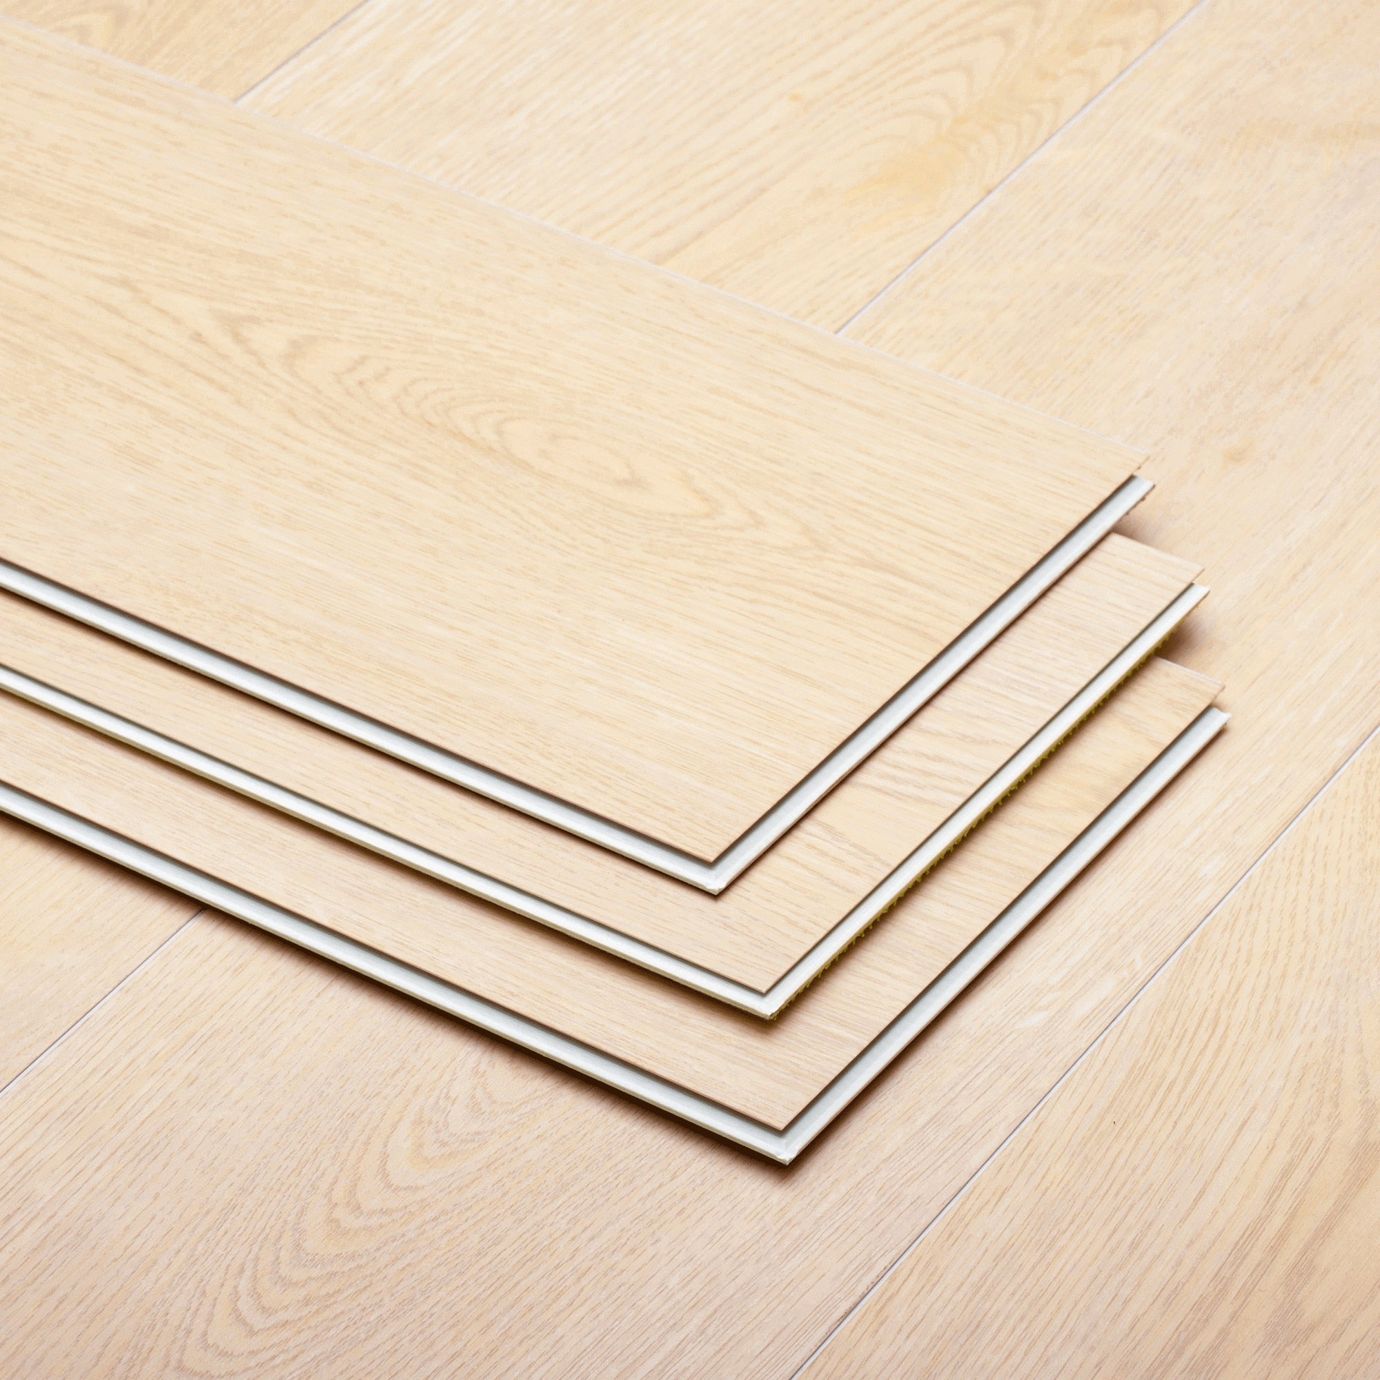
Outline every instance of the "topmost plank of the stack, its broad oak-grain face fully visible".
{"label": "topmost plank of the stack, its broad oak-grain face fully visible", "polygon": [[1148,487],[39,30],[0,75],[6,586],[562,827],[702,868],[793,792],[784,831]]}

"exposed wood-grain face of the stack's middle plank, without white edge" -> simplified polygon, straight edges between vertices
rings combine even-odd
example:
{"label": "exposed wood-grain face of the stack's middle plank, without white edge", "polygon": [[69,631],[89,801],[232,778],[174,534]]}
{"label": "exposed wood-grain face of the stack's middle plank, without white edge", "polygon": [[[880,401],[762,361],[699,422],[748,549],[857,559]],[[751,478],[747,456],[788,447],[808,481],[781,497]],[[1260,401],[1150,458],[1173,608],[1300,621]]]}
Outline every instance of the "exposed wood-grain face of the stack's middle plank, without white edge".
{"label": "exposed wood-grain face of the stack's middle plank, without white edge", "polygon": [[723,896],[0,593],[0,665],[765,991],[1191,581],[1108,537]]}

